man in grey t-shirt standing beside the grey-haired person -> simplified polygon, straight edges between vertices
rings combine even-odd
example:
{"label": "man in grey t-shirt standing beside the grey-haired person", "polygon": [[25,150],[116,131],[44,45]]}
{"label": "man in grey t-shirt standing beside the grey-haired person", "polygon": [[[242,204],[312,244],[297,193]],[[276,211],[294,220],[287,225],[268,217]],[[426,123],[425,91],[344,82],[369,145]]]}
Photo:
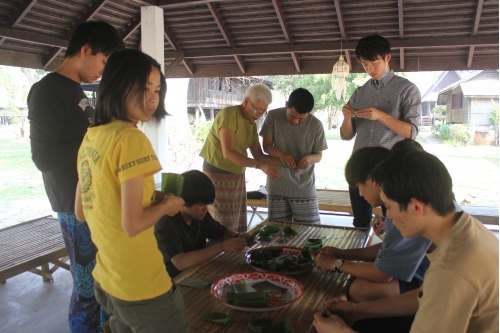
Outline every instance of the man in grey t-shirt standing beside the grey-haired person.
{"label": "man in grey t-shirt standing beside the grey-haired person", "polygon": [[280,178],[267,178],[271,219],[320,222],[314,164],[328,145],[323,124],[311,115],[313,107],[313,95],[295,89],[284,108],[269,112],[260,131],[264,151],[286,166],[279,167]]}

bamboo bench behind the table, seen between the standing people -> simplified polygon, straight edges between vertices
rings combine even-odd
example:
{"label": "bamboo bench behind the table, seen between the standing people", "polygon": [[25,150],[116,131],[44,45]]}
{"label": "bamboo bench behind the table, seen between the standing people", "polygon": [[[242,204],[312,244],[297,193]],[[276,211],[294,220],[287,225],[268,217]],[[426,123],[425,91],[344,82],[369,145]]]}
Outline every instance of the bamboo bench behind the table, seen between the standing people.
{"label": "bamboo bench behind the table, seen between the standing people", "polygon": [[[320,210],[330,212],[344,212],[352,215],[351,199],[349,191],[338,190],[320,190],[316,189],[318,196],[318,206]],[[249,225],[252,222],[254,215],[258,215],[261,220],[264,218],[257,212],[258,207],[267,207],[266,199],[247,199],[247,205],[252,207],[253,213]],[[373,214],[382,214],[382,209],[377,207],[373,210]]]}

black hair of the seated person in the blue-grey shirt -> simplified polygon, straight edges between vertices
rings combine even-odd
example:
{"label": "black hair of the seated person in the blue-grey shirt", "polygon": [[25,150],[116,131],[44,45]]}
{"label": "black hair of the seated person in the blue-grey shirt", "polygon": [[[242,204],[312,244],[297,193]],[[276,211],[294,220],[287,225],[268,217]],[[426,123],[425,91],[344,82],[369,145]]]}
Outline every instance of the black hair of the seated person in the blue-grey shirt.
{"label": "black hair of the seated person in the blue-grey shirt", "polygon": [[345,179],[350,187],[365,183],[373,168],[391,155],[384,147],[364,147],[352,153],[345,165]]}

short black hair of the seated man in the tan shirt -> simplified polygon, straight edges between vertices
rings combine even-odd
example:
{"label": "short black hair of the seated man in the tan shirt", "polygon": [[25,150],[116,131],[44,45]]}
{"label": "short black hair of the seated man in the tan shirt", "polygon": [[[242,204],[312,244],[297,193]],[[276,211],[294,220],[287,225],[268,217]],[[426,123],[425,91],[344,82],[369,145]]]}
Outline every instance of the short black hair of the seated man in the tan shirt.
{"label": "short black hair of the seated man in the tan shirt", "polygon": [[392,154],[375,167],[372,178],[402,211],[406,211],[412,198],[432,206],[440,216],[455,210],[448,170],[436,156],[425,151]]}

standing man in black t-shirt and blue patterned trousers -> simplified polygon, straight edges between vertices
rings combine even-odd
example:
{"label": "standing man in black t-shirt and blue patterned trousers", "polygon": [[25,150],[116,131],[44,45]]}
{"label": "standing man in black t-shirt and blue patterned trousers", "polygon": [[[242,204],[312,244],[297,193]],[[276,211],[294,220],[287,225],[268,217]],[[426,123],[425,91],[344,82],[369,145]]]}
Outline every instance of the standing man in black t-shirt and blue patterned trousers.
{"label": "standing man in black t-shirt and blue patterned trousers", "polygon": [[94,115],[80,83],[97,80],[108,57],[124,47],[118,31],[108,23],[84,22],[73,32],[61,66],[35,83],[28,95],[32,159],[42,172],[70,260],[71,332],[100,332],[107,320],[94,297],[92,269],[97,249],[87,223],[77,221],[74,214],[76,156]]}

